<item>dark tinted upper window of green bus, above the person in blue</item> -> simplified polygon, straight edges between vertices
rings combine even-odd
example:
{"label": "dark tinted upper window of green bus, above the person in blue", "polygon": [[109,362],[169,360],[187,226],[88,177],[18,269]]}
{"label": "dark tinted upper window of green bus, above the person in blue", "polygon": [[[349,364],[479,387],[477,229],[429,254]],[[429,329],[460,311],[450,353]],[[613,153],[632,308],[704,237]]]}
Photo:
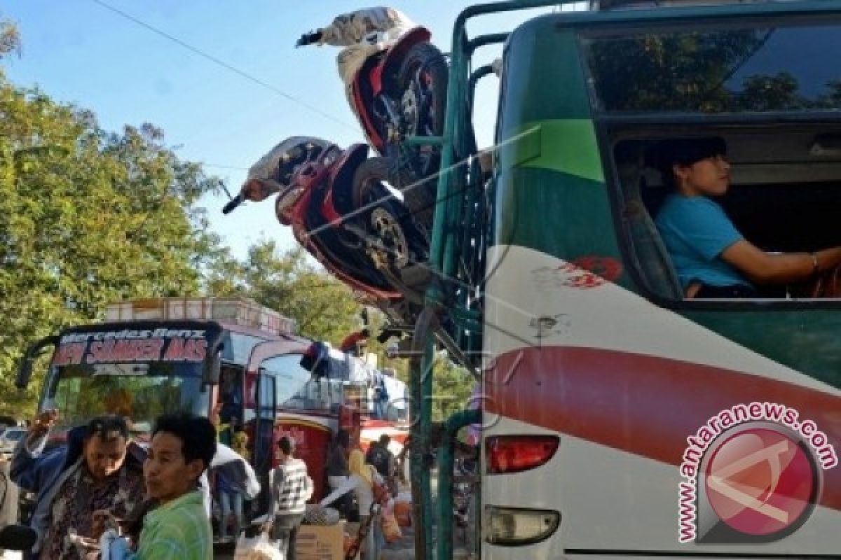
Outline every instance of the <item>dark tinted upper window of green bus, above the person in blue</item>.
{"label": "dark tinted upper window of green bus, above the person in blue", "polygon": [[841,110],[841,22],[584,34],[596,111]]}

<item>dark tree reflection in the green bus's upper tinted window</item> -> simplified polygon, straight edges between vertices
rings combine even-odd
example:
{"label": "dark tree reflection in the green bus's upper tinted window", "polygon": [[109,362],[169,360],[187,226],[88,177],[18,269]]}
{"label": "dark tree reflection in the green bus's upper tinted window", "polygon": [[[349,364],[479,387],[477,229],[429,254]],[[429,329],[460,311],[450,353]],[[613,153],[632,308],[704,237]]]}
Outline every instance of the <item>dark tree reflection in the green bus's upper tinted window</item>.
{"label": "dark tree reflection in the green bus's upper tinted window", "polygon": [[[738,76],[776,31],[723,28],[596,39],[589,62],[601,102],[611,111],[725,113],[838,107],[838,81],[801,84],[784,70],[785,64],[775,73]],[[824,89],[814,96],[809,90],[816,86]]]}

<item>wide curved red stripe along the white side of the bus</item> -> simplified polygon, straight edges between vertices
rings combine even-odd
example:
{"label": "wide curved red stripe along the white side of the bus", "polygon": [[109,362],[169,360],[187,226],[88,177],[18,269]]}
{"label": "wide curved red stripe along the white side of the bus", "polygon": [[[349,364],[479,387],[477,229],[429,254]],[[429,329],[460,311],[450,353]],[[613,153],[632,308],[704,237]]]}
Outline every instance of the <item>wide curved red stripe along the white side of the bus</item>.
{"label": "wide curved red stripe along the white side of the bus", "polygon": [[[778,403],[812,420],[838,451],[841,397],[731,369],[601,348],[522,348],[485,374],[485,411],[680,465],[720,411]],[[559,450],[563,453],[563,446]],[[841,467],[823,471],[821,505],[841,510]]]}

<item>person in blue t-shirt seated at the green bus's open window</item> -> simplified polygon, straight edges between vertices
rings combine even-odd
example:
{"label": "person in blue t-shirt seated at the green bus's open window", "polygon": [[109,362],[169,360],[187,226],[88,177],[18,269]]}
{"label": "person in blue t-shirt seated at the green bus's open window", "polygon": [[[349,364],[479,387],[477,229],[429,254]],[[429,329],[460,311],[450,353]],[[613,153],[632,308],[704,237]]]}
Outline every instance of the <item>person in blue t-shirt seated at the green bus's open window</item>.
{"label": "person in blue t-shirt seated at the green bus's open window", "polygon": [[841,264],[841,247],[770,254],[743,238],[712,200],[730,184],[723,139],[668,139],[658,155],[664,181],[674,192],[655,222],[685,297],[755,297],[755,285],[808,280]]}

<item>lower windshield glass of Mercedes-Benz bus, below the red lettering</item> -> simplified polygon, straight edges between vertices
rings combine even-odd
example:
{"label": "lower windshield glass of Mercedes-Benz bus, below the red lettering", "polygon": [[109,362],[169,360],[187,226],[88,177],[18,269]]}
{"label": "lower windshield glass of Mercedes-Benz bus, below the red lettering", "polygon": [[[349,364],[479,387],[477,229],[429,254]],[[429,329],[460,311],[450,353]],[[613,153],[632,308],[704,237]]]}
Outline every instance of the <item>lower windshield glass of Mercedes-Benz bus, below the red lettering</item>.
{"label": "lower windshield glass of Mercedes-Benz bus, below the red lettering", "polygon": [[201,364],[75,364],[50,368],[40,410],[60,411],[60,428],[100,414],[119,414],[132,432],[151,432],[156,416],[188,411],[205,416]]}

